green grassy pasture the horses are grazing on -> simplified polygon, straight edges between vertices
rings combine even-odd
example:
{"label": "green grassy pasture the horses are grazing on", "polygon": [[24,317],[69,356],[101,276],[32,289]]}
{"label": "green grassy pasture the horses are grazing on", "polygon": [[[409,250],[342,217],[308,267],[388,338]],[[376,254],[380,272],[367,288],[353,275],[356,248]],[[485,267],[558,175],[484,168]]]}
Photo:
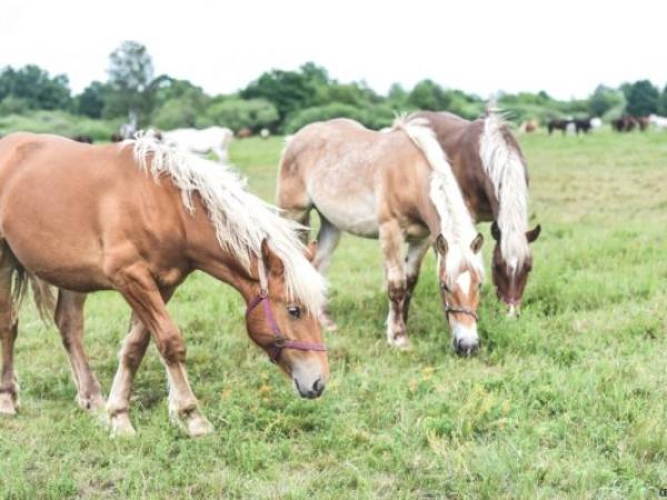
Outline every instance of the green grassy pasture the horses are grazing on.
{"label": "green grassy pasture the horses are grazing on", "polygon": [[[54,327],[26,307],[22,407],[0,419],[0,498],[658,498],[667,488],[667,136],[520,142],[542,233],[519,320],[504,317],[485,284],[477,356],[449,346],[432,254],[412,301],[412,349],[388,348],[378,244],[344,237],[330,270],[340,330],[327,338],[321,399],[298,398],[247,337],[240,296],[198,274],[170,310],[216,432],[191,440],[168,423],[151,347],[131,411],[139,433],[111,440],[76,408]],[[231,147],[251,190],[269,200],[281,147],[279,138]],[[89,299],[86,339],[104,390],[128,319],[117,294]]]}

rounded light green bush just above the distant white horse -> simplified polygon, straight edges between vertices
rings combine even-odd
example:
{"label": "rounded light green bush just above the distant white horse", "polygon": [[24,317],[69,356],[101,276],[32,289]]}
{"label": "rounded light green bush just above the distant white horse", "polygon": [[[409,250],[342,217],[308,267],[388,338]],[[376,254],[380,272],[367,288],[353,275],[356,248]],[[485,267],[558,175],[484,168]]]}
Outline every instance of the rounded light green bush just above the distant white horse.
{"label": "rounded light green bush just above the distant white horse", "polygon": [[213,124],[229,127],[233,131],[248,128],[255,132],[273,128],[278,122],[278,110],[263,99],[227,99],[209,107],[206,117]]}

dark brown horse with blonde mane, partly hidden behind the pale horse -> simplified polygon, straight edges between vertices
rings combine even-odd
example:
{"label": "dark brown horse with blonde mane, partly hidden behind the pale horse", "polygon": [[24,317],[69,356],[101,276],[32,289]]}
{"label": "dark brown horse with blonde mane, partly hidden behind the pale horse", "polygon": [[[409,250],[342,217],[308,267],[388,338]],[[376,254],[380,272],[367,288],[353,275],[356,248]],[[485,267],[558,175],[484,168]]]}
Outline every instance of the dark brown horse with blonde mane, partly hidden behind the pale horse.
{"label": "dark brown horse with blonde mane, partly hidden behind the pale horse", "polygon": [[416,114],[432,127],[477,221],[494,221],[491,262],[498,298],[519,312],[540,227],[528,230],[528,172],[519,144],[501,117],[468,121],[447,112]]}

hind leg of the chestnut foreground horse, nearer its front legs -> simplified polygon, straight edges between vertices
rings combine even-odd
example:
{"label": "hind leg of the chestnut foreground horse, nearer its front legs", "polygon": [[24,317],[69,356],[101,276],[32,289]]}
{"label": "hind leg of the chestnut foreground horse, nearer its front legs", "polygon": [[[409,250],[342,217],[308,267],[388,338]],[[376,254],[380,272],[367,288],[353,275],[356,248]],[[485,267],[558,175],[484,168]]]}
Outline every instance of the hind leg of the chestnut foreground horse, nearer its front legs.
{"label": "hind leg of the chestnut foreground horse, nearer its front legs", "polygon": [[97,412],[104,407],[100,383],[88,363],[83,347],[84,293],[60,290],[54,320],[67,350],[72,379],[77,386],[77,403],[83,410]]}

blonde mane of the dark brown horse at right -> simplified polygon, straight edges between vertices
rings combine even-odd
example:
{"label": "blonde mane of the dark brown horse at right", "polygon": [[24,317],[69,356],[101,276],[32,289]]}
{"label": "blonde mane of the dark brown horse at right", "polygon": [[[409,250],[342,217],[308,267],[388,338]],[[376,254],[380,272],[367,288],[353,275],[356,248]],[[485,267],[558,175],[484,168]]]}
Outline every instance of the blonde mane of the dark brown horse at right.
{"label": "blonde mane of the dark brown horse at right", "polygon": [[479,153],[484,169],[498,198],[500,252],[516,271],[530,256],[528,230],[528,184],[526,167],[517,149],[504,137],[508,133],[502,114],[489,109],[484,120]]}

